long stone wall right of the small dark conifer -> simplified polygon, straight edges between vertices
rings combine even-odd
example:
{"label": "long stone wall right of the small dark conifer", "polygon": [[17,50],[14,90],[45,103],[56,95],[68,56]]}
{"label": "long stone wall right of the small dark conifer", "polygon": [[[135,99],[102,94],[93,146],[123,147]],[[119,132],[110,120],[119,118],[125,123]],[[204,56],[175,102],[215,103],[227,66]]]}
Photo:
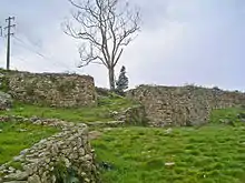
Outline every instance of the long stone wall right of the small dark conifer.
{"label": "long stone wall right of the small dark conifer", "polygon": [[244,93],[194,85],[140,85],[128,91],[127,96],[145,106],[154,126],[199,125],[208,121],[213,109],[245,105]]}

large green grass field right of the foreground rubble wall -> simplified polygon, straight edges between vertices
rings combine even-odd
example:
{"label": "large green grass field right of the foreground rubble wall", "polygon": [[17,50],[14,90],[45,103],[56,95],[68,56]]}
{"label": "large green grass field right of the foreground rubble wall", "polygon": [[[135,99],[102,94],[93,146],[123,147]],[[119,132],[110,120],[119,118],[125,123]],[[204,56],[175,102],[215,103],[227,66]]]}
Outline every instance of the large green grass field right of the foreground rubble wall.
{"label": "large green grass field right of the foreground rubble wall", "polygon": [[[200,129],[129,128],[104,133],[92,142],[98,161],[112,164],[102,171],[105,183],[243,183],[245,126],[217,124],[236,119],[235,109],[217,110],[212,124]],[[174,166],[165,163],[175,162]]]}

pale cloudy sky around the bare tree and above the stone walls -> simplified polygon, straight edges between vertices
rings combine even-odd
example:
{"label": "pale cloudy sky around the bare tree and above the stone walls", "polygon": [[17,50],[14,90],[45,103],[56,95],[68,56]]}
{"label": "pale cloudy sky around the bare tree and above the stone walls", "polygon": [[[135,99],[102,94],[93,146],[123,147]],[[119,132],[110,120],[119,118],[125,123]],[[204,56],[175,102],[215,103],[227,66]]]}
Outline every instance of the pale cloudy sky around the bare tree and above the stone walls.
{"label": "pale cloudy sky around the bare tree and above the stone walls", "polygon": [[[141,32],[117,67],[118,71],[126,65],[130,87],[196,83],[245,90],[244,0],[134,2],[141,9]],[[14,16],[13,32],[23,41],[12,39],[11,69],[90,74],[97,85],[107,87],[105,68],[76,68],[77,43],[60,26],[70,10],[67,0],[0,0],[0,26]],[[4,65],[6,39],[0,38],[0,67]]]}

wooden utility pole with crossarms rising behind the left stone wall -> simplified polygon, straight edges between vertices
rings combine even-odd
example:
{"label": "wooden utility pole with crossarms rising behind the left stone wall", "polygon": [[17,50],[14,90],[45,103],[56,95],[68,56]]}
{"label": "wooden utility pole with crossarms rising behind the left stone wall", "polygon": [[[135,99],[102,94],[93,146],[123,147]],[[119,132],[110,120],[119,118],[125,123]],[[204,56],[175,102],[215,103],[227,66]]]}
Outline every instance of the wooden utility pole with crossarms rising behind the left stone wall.
{"label": "wooden utility pole with crossarms rising behind the left stone wall", "polygon": [[10,37],[13,35],[13,33],[11,33],[11,28],[16,27],[16,24],[11,24],[11,20],[14,20],[14,17],[6,19],[8,26],[4,28],[7,29],[7,70],[9,70],[10,65]]}

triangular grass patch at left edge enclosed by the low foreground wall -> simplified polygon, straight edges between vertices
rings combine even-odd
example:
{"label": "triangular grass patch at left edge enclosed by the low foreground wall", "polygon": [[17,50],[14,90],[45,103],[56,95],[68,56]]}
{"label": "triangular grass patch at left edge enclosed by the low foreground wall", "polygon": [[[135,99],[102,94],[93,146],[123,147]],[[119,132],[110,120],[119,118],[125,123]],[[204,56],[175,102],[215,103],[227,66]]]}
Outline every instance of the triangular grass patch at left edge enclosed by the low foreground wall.
{"label": "triangular grass patch at left edge enclosed by the low foreground wall", "polygon": [[55,128],[31,123],[0,122],[0,165],[41,139],[58,132]]}

